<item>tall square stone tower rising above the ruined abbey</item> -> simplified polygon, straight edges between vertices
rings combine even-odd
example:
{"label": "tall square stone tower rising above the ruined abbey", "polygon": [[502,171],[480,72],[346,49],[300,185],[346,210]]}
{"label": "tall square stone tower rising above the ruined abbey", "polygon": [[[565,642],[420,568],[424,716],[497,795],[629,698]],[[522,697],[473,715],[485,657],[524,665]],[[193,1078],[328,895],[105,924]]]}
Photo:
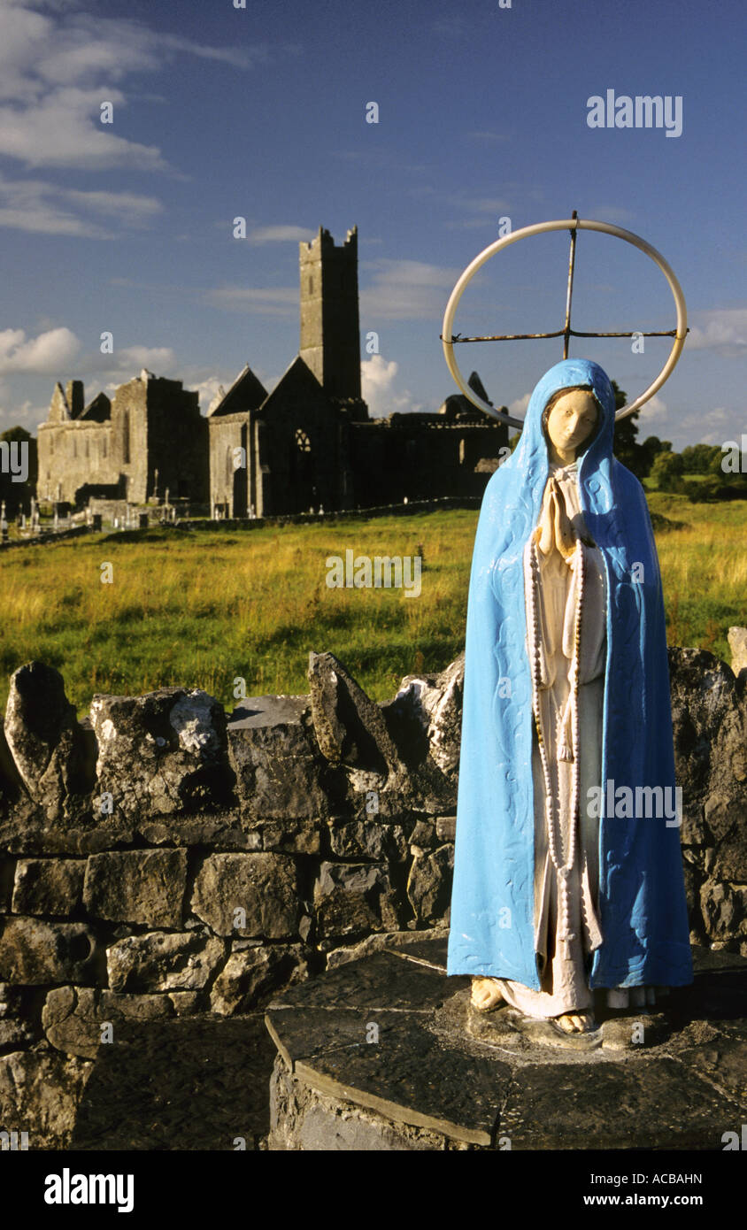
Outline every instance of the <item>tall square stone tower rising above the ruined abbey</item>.
{"label": "tall square stone tower rising above the ruined abbey", "polygon": [[300,245],[300,357],[330,397],[361,396],[358,228]]}

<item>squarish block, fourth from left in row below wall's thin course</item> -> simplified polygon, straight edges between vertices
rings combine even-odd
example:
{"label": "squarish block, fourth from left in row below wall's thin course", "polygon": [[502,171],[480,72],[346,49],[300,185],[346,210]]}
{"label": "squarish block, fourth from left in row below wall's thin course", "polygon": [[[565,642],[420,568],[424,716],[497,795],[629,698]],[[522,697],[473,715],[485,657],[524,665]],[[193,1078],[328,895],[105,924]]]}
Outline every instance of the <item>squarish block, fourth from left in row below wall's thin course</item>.
{"label": "squarish block, fourth from left in row below wall's thin course", "polygon": [[397,926],[384,863],[322,862],[314,903],[318,931],[325,940]]}

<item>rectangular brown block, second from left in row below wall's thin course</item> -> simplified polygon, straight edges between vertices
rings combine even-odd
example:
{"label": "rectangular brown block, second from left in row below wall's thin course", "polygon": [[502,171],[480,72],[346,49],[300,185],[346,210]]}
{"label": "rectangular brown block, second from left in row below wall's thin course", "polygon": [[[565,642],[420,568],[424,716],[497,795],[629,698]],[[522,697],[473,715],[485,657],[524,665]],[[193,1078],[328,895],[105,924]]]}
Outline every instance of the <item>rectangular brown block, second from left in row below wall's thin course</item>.
{"label": "rectangular brown block, second from left in row below wall's thin course", "polygon": [[84,902],[94,918],[178,927],[186,886],[186,850],[110,851],[89,859]]}

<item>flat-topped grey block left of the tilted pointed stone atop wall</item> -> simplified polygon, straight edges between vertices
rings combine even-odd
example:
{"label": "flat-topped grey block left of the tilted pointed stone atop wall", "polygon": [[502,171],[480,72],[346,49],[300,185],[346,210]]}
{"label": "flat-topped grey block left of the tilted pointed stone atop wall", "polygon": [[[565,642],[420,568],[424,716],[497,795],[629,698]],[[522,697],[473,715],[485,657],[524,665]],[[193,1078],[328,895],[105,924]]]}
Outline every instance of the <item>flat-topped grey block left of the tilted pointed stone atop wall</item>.
{"label": "flat-topped grey block left of the tilted pointed stone atop wall", "polygon": [[252,819],[324,813],[308,715],[308,696],[251,696],[234,710],[228,724],[230,761],[242,811]]}

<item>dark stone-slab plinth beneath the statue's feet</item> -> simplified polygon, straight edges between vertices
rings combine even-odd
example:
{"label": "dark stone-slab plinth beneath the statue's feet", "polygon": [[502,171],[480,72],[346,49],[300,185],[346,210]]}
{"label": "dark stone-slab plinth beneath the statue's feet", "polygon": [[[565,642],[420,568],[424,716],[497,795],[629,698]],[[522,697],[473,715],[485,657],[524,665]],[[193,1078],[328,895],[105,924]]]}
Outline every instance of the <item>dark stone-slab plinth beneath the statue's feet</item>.
{"label": "dark stone-slab plinth beneath the statue's feet", "polygon": [[610,1014],[583,1037],[473,1010],[445,945],[397,941],[270,1005],[271,1149],[720,1150],[740,1130],[747,958],[695,950],[666,1011]]}

